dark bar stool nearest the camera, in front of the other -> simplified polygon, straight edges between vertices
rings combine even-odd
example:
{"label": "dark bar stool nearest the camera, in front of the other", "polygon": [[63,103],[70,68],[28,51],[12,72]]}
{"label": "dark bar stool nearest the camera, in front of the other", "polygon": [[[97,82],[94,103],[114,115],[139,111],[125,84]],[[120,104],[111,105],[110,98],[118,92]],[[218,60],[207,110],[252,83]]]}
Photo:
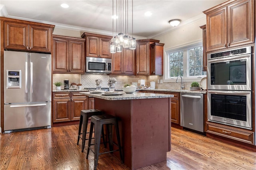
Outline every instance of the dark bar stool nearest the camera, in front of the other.
{"label": "dark bar stool nearest the camera, in front of the other", "polygon": [[[95,127],[94,127],[95,125]],[[100,134],[102,132],[102,127],[103,125],[107,125],[107,132],[108,132],[108,143],[109,143],[109,148],[110,151],[108,152],[100,152]],[[118,145],[113,143],[113,139],[112,139],[112,126],[114,125],[115,129],[116,129],[116,137],[117,137],[117,141],[118,141]],[[92,144],[92,131],[94,128],[94,150],[93,148],[91,148]],[[113,144],[118,146],[118,150],[113,150]],[[98,158],[100,154],[106,154],[106,153],[110,153],[110,152],[115,152],[115,151],[119,151],[120,153],[120,158],[121,158],[121,162],[123,163],[123,156],[122,156],[122,149],[121,149],[121,141],[120,141],[120,134],[119,134],[119,128],[118,128],[118,122],[116,117],[112,116],[112,115],[94,115],[91,117],[91,126],[90,126],[90,134],[89,134],[89,141],[88,141],[88,149],[87,149],[87,154],[86,154],[86,159],[88,159],[88,155],[90,150],[92,152],[94,152],[94,170],[97,169],[97,165],[98,165]]]}

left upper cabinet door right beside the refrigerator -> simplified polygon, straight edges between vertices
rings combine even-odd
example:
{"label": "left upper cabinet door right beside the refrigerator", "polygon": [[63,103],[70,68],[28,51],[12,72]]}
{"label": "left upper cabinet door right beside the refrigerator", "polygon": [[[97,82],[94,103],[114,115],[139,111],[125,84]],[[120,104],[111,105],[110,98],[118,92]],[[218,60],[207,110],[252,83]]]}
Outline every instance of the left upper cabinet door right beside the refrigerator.
{"label": "left upper cabinet door right beside the refrigerator", "polygon": [[53,38],[53,73],[68,73],[68,40]]}

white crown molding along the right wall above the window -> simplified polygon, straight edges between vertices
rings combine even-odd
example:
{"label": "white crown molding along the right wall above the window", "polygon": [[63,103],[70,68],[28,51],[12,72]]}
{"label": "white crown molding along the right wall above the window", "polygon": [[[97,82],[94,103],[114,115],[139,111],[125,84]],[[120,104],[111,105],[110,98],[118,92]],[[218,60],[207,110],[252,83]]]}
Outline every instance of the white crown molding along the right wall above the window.
{"label": "white crown molding along the right wall above the window", "polygon": [[180,28],[182,28],[184,26],[188,26],[188,25],[193,24],[195,22],[198,22],[200,20],[204,20],[205,18],[206,18],[206,15],[202,13],[202,14],[200,14],[198,16],[195,16],[193,18],[190,18],[188,20],[180,22],[180,24],[178,26],[176,26],[176,27],[172,27],[171,26],[167,30],[164,30],[162,32],[158,32],[156,34],[153,34],[152,36],[147,37],[147,39],[152,39],[152,38],[155,38],[155,37],[158,37],[158,36],[162,36],[164,34],[168,34],[169,32],[173,32],[173,31],[178,30],[178,29],[180,29]]}

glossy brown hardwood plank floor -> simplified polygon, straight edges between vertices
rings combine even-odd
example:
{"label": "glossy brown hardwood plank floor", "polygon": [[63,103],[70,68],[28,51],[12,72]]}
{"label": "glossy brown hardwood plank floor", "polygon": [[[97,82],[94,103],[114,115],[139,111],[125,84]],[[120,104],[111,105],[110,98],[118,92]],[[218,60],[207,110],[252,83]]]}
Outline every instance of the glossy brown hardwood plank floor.
{"label": "glossy brown hardwood plank floor", "polygon": [[[92,170],[94,154],[86,160],[78,125],[0,134],[1,170]],[[86,142],[87,144],[87,142]],[[101,148],[102,152],[104,148]],[[98,170],[129,170],[113,154],[99,156]],[[256,170],[256,152],[203,135],[172,128],[167,161],[139,170]]]}

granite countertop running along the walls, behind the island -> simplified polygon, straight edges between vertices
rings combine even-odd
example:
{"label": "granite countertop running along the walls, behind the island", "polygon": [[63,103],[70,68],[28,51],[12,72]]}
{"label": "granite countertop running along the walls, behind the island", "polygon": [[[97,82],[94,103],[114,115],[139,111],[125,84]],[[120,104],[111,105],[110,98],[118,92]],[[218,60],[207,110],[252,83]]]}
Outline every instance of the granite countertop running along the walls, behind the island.
{"label": "granite countertop running along the walls, behind the island", "polygon": [[[201,90],[201,91],[190,91],[190,90],[179,90],[179,89],[151,89],[151,88],[146,88],[146,89],[136,89],[137,91],[164,91],[164,92],[180,92],[180,93],[201,93],[201,94],[206,94],[206,90]],[[52,92],[86,92],[89,91],[88,89],[65,89],[65,90],[52,90]],[[116,91],[123,91],[122,89],[116,89]]]}

